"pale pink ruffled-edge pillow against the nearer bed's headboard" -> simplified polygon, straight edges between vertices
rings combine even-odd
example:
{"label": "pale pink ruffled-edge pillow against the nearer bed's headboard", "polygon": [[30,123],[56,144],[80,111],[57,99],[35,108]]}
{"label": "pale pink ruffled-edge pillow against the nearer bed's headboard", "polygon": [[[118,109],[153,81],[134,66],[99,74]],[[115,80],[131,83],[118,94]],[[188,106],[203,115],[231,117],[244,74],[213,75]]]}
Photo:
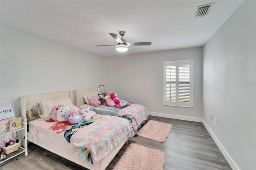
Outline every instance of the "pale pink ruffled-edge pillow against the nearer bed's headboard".
{"label": "pale pink ruffled-edge pillow against the nearer bed's headboard", "polygon": [[63,97],[63,98],[54,99],[54,100],[42,100],[41,103],[43,106],[42,110],[44,112],[45,119],[51,119],[50,113],[52,111],[52,108],[54,106],[58,106],[58,104],[68,106],[68,107],[73,105],[70,97]]}

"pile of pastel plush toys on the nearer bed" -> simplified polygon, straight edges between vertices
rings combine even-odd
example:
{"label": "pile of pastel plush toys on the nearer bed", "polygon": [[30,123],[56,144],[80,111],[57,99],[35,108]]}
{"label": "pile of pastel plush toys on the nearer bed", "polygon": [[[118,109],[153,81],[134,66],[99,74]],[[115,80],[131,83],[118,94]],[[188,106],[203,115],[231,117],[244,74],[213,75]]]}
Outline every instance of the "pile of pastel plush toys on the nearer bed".
{"label": "pile of pastel plush toys on the nearer bed", "polygon": [[81,124],[89,121],[96,113],[90,107],[79,109],[76,106],[54,106],[50,113],[53,121],[64,122],[68,121],[71,124]]}

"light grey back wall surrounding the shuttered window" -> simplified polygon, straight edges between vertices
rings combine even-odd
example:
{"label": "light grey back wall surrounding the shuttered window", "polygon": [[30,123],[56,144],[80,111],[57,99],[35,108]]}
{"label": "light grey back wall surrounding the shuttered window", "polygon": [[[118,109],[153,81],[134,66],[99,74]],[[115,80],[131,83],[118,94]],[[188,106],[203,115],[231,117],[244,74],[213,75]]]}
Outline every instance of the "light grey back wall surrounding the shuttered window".
{"label": "light grey back wall surrounding the shuttered window", "polygon": [[[162,61],[178,59],[194,59],[194,108],[162,104]],[[113,91],[120,99],[134,100],[151,115],[201,121],[202,47],[104,57],[104,68],[107,93]]]}

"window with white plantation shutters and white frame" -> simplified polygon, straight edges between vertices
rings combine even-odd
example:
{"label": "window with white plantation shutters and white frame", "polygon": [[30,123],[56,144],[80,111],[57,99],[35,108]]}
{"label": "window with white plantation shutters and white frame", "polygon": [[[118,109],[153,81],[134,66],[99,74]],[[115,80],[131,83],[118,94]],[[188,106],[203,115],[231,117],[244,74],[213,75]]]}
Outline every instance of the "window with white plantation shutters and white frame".
{"label": "window with white plantation shutters and white frame", "polygon": [[163,61],[163,105],[194,107],[193,60]]}

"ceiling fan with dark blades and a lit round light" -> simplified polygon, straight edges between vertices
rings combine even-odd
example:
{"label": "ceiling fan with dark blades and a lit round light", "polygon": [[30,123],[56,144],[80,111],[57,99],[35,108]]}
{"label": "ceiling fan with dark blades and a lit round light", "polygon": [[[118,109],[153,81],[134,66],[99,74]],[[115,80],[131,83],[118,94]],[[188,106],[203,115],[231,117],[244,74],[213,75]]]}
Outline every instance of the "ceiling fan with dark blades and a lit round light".
{"label": "ceiling fan with dark blades and a lit round light", "polygon": [[126,52],[129,51],[128,46],[132,46],[132,45],[151,45],[151,42],[137,42],[137,43],[126,43],[126,40],[124,40],[123,36],[125,35],[125,31],[120,31],[119,34],[120,36],[122,36],[122,38],[120,39],[116,34],[114,33],[109,33],[110,36],[112,36],[116,42],[118,42],[118,44],[114,44],[114,45],[95,45],[96,47],[100,47],[100,46],[116,46],[116,51],[120,51],[120,52]]}

